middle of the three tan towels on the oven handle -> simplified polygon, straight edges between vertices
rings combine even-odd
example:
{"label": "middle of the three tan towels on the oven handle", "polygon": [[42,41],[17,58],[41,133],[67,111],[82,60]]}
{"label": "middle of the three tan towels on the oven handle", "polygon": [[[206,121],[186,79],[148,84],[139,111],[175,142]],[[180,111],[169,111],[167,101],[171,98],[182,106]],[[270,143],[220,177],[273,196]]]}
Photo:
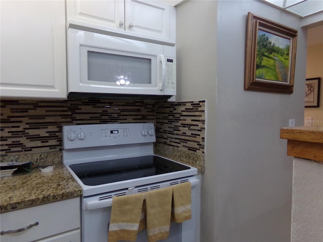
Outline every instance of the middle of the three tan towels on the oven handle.
{"label": "middle of the three tan towels on the oven handle", "polygon": [[172,197],[172,187],[145,193],[146,226],[149,242],[168,238],[172,214]]}

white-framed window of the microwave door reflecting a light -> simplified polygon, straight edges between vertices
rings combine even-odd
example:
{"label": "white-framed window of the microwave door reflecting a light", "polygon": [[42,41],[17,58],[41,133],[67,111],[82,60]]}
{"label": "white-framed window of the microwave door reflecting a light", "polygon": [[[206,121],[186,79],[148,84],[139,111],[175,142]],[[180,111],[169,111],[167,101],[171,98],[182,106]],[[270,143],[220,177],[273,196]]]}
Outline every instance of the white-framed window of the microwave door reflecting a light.
{"label": "white-framed window of the microwave door reflecting a light", "polygon": [[156,87],[154,55],[80,46],[81,83],[112,87]]}

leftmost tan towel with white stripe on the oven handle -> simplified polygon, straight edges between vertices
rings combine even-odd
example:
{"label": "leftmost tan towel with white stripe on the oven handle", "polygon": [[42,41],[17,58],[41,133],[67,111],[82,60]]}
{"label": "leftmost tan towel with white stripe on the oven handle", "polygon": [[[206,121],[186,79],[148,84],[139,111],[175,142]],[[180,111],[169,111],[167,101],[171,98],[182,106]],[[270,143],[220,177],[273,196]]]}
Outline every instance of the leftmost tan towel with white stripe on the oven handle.
{"label": "leftmost tan towel with white stripe on the oven handle", "polygon": [[[135,241],[139,230],[144,194],[113,197],[108,241]],[[141,228],[142,229],[142,228]]]}

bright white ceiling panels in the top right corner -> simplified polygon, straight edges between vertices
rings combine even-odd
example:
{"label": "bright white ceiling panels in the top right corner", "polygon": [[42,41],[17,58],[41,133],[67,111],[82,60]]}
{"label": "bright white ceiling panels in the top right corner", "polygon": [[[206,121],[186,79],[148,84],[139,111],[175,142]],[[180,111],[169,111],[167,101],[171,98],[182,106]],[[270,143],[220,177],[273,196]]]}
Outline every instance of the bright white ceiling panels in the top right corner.
{"label": "bright white ceiling panels in the top right corner", "polygon": [[263,0],[263,2],[301,18],[319,12],[323,14],[323,0]]}

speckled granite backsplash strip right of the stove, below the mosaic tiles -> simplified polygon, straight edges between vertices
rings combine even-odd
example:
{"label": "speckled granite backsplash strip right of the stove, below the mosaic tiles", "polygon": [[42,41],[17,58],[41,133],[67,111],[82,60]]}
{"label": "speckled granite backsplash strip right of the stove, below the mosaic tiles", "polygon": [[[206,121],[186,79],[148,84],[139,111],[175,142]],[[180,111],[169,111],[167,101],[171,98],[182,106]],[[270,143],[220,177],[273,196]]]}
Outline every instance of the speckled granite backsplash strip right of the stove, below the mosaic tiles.
{"label": "speckled granite backsplash strip right of the stove, below the mosaic tiles", "polygon": [[186,151],[160,143],[154,144],[154,153],[156,155],[164,156],[183,164],[196,167],[198,169],[198,172],[205,170],[204,154],[196,153],[193,151]]}

